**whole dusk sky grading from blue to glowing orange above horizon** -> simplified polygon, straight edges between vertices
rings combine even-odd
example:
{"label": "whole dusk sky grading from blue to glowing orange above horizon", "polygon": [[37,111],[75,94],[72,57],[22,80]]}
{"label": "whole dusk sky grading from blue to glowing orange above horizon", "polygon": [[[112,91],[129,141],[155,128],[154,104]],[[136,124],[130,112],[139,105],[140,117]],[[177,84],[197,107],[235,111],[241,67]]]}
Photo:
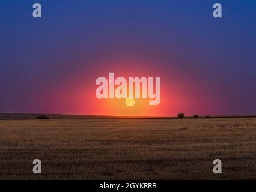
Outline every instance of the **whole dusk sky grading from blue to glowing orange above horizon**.
{"label": "whole dusk sky grading from blue to glowing orange above horizon", "polygon": [[[256,1],[215,2],[0,1],[0,112],[256,114]],[[97,99],[109,72],[160,77],[161,103]]]}

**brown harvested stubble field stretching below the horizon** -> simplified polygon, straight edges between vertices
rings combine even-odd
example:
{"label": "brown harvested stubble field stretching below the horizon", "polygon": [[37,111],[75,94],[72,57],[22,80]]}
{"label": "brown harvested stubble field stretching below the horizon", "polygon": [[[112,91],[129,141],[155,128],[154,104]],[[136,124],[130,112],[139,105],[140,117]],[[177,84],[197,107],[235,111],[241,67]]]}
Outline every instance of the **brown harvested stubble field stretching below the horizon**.
{"label": "brown harvested stubble field stretching below the horizon", "polygon": [[256,118],[2,120],[0,179],[256,179]]}

